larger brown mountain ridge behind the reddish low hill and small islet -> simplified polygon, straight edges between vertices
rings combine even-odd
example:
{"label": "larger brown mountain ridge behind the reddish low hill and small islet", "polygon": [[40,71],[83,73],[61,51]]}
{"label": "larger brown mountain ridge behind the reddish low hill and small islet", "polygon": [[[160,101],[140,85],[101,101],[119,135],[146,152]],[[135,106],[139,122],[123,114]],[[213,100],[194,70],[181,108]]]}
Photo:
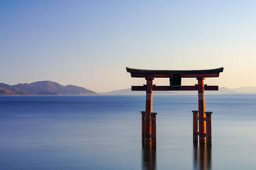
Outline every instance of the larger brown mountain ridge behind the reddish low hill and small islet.
{"label": "larger brown mountain ridge behind the reddish low hill and small islet", "polygon": [[30,92],[33,95],[37,95],[42,91],[49,91],[52,93],[57,93],[59,95],[97,95],[96,92],[85,89],[84,87],[67,85],[63,86],[59,83],[53,81],[36,81],[33,83],[17,84],[17,85],[8,85],[0,83],[0,87],[4,89],[20,89]]}

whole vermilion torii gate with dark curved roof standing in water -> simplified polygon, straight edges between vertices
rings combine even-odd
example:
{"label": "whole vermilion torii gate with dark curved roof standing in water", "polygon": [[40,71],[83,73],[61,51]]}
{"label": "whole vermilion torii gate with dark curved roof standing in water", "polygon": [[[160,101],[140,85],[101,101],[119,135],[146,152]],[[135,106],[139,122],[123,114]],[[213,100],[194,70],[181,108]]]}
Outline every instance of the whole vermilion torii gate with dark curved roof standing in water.
{"label": "whole vermilion torii gate with dark curved roof standing in water", "polygon": [[[142,111],[142,143],[156,145],[156,114],[152,112],[153,91],[198,91],[198,111],[193,112],[193,142],[212,143],[211,113],[205,112],[204,90],[219,90],[218,86],[204,84],[206,77],[219,77],[222,68],[209,70],[143,70],[126,67],[131,77],[145,78],[146,85],[132,86],[132,91],[146,91],[146,110]],[[169,78],[170,86],[153,85],[154,78]],[[198,84],[194,86],[181,86],[181,78],[197,78]],[[198,116],[197,116],[198,114]],[[207,114],[207,117],[205,117]],[[206,124],[204,123],[206,121]],[[198,131],[199,125],[199,131]]]}

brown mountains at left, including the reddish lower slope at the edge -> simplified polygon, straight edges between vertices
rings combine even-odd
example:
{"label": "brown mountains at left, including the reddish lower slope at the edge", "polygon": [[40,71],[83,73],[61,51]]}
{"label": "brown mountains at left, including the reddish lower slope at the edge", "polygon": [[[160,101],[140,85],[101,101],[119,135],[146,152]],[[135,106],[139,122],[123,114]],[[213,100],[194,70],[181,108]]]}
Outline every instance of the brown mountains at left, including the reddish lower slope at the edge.
{"label": "brown mountains at left, including the reddish lower slope at the edge", "polygon": [[[55,95],[97,95],[96,92],[74,85],[60,85],[53,81],[36,81],[34,83],[8,85],[0,83],[0,95],[38,95],[57,93]],[[39,95],[40,95],[39,94]]]}

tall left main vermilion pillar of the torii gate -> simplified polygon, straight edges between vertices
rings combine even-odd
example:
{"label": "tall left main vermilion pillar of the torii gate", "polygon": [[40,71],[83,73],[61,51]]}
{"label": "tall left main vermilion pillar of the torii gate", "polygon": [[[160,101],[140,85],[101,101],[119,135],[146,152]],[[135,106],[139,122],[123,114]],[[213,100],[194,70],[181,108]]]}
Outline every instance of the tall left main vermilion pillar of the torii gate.
{"label": "tall left main vermilion pillar of the torii gate", "polygon": [[150,112],[152,112],[152,100],[153,100],[153,80],[154,78],[146,79],[146,113],[145,113],[145,138],[144,144],[150,145],[151,139],[149,134],[151,134],[151,124],[150,124]]}

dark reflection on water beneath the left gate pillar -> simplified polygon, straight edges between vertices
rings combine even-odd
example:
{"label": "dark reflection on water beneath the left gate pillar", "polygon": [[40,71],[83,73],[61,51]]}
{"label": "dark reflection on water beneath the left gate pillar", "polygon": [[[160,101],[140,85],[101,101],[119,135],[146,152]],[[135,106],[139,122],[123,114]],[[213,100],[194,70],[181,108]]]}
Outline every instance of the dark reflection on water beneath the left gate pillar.
{"label": "dark reflection on water beneath the left gate pillar", "polygon": [[156,170],[156,147],[142,145],[142,170]]}

